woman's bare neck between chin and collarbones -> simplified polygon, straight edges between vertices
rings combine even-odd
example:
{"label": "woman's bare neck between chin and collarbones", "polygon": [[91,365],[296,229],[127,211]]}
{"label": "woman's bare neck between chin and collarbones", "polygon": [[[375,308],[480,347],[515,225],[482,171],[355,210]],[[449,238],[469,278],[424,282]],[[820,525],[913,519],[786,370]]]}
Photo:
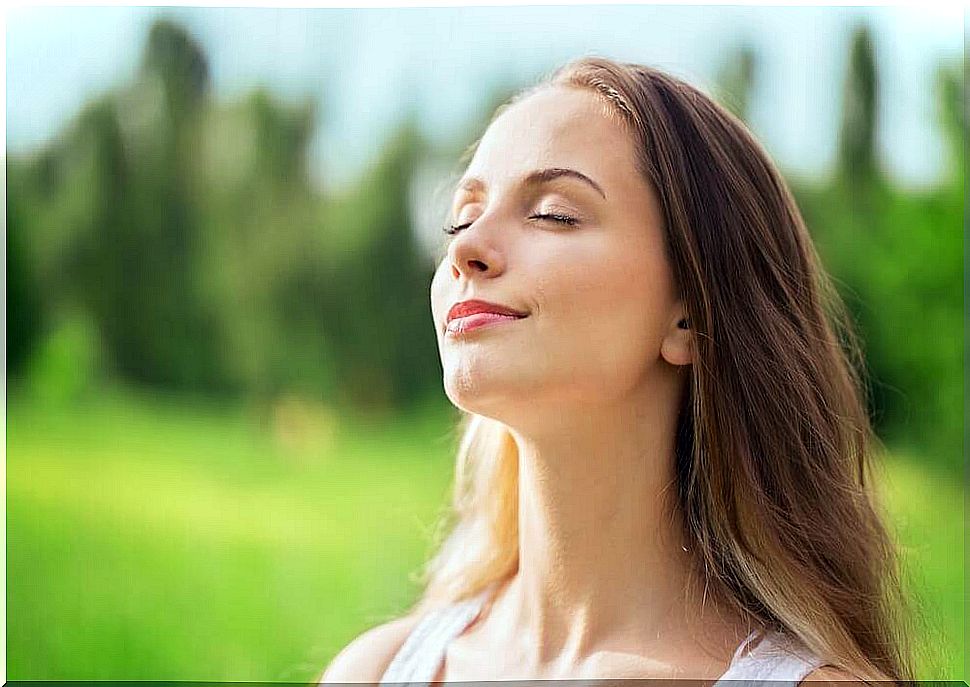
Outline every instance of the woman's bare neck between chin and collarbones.
{"label": "woman's bare neck between chin and collarbones", "polygon": [[559,413],[541,429],[510,426],[519,570],[506,612],[536,665],[683,627],[690,563],[676,502],[675,391],[663,403],[653,387],[637,402]]}

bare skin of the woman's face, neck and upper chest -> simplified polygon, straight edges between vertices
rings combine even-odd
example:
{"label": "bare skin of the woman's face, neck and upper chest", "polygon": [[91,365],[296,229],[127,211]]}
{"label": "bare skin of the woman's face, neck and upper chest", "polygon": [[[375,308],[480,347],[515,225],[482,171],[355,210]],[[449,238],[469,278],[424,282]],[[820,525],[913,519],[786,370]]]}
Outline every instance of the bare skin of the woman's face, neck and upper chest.
{"label": "bare skin of the woman's face, neck and upper chest", "polygon": [[[523,184],[534,170],[569,168]],[[684,600],[674,495],[690,330],[656,195],[595,94],[549,88],[504,111],[463,178],[431,283],[449,399],[519,448],[519,571],[448,648],[439,680],[715,679],[751,628]],[[579,219],[574,226],[535,213]],[[468,299],[524,319],[446,333]]]}

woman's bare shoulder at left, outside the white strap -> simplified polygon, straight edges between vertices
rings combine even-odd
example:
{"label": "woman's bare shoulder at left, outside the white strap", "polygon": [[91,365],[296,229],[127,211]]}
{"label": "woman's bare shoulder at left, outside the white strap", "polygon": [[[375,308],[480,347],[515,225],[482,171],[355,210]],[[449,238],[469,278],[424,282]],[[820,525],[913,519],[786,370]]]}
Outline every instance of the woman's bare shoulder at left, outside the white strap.
{"label": "woman's bare shoulder at left, outside the white strap", "polygon": [[367,630],[334,657],[319,684],[377,684],[418,620],[420,616],[406,615]]}

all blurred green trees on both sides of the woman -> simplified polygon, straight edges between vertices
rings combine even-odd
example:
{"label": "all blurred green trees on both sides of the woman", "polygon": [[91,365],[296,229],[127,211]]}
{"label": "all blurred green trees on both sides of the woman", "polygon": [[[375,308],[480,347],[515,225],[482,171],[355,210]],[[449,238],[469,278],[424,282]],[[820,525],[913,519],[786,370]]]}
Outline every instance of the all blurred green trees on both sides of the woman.
{"label": "all blurred green trees on both sides of the woman", "polygon": [[[867,27],[847,63],[838,168],[793,188],[864,335],[879,431],[957,468],[962,64],[939,71],[948,176],[912,191],[878,158]],[[718,95],[742,118],[758,73],[748,44],[720,72]],[[521,85],[487,89],[472,136]],[[52,398],[120,380],[266,407],[296,395],[393,409],[440,395],[433,263],[408,194],[441,151],[405,116],[349,192],[323,193],[307,171],[316,127],[311,102],[283,104],[263,89],[215,101],[200,45],[157,21],[130,84],[89,102],[37,154],[10,160],[11,379]],[[87,381],[55,392],[71,342]]]}

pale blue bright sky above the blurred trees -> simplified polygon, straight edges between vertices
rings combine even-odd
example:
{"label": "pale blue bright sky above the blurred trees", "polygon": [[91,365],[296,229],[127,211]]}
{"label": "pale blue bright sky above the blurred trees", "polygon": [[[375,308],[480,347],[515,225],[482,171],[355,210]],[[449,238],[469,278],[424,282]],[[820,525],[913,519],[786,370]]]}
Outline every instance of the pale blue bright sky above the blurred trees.
{"label": "pale blue bright sky above the blurred trees", "polygon": [[461,143],[490,84],[525,82],[580,54],[666,68],[713,85],[743,40],[760,63],[752,128],[788,172],[832,162],[855,22],[877,40],[880,142],[903,183],[932,183],[943,149],[932,69],[963,52],[961,9],[912,7],[516,6],[391,9],[35,7],[7,15],[7,147],[23,152],[92,94],[131,78],[147,27],[166,14],[203,44],[217,97],[264,84],[319,101],[312,165],[329,185],[377,154],[406,107],[429,136]]}

